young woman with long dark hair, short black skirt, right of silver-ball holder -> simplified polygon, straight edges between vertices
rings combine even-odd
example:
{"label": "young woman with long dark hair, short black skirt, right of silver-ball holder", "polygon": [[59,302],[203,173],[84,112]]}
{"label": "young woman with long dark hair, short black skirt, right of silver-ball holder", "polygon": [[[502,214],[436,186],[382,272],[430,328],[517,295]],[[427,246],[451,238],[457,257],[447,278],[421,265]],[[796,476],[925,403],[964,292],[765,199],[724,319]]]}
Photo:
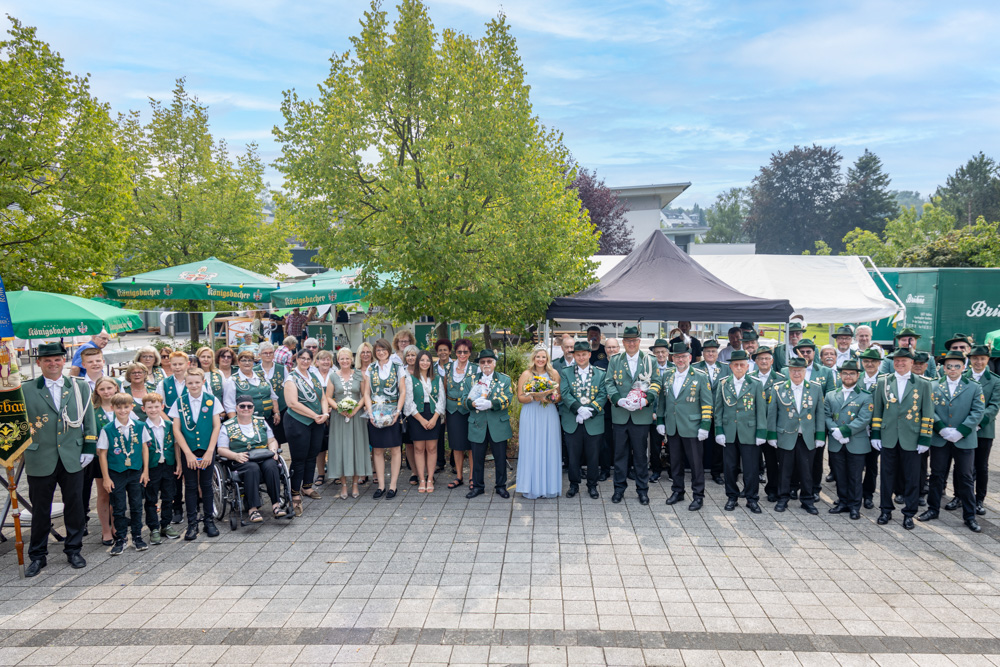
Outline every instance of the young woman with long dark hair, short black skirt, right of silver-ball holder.
{"label": "young woman with long dark hair, short black skirt, right of silver-ball holder", "polygon": [[413,459],[420,486],[417,493],[434,493],[437,436],[444,419],[444,386],[427,350],[417,353],[416,369],[406,375],[407,430],[413,438]]}

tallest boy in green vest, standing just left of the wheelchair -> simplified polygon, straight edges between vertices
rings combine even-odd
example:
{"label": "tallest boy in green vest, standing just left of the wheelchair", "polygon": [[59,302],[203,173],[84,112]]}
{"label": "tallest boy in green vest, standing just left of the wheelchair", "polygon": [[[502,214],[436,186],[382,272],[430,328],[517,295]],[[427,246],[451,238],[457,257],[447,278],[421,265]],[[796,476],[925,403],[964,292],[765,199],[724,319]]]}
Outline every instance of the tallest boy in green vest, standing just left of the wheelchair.
{"label": "tallest boy in green vest, standing just left of the wheelchair", "polygon": [[174,442],[184,459],[184,497],[187,498],[188,518],[184,539],[191,541],[198,538],[199,487],[205,534],[209,537],[219,535],[219,529],[215,527],[211,467],[222,425],[219,415],[223,409],[221,401],[204,391],[205,372],[200,368],[188,368],[184,387],[186,392],[170,408],[168,416],[173,422]]}

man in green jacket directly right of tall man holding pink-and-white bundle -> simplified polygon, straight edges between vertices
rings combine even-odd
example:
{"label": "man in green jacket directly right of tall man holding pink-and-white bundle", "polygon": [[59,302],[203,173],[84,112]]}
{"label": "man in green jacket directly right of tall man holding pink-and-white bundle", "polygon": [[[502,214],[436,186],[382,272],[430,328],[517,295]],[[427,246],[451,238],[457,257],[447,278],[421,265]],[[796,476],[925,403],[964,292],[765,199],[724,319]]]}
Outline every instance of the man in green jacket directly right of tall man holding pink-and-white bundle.
{"label": "man in green jacket directly right of tall man holding pink-and-white bundle", "polygon": [[[735,353],[735,351],[734,351]],[[670,477],[673,480],[667,504],[684,498],[684,462],[691,466],[691,495],[688,509],[697,512],[705,502],[704,442],[712,426],[714,401],[708,374],[691,368],[691,349],[687,343],[670,348],[674,368],[663,379],[656,422],[667,436],[670,452]]]}

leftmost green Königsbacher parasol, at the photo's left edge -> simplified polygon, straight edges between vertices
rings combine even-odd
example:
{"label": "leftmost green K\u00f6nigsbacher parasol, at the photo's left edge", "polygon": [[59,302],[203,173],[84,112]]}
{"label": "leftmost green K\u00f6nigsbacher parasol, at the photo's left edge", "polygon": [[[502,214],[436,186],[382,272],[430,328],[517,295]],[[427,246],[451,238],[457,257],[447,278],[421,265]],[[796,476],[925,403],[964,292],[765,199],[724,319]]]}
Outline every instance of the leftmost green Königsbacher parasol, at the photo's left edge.
{"label": "leftmost green K\u00f6nigsbacher parasol, at the photo's left edge", "polygon": [[134,310],[68,294],[21,290],[8,292],[7,302],[18,338],[96,336],[101,329],[116,334],[142,327]]}

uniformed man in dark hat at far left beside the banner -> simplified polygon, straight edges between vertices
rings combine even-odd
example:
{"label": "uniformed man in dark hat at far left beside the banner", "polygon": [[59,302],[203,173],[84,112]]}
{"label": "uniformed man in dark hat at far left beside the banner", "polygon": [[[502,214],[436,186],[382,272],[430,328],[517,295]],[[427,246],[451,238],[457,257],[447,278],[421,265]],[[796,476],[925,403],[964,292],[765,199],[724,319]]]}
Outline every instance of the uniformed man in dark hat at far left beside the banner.
{"label": "uniformed man in dark hat at far left beside the banner", "polygon": [[26,577],[34,577],[46,566],[56,485],[65,505],[63,552],[72,567],[86,567],[87,561],[80,555],[87,523],[82,502],[83,469],[97,451],[90,386],[83,379],[63,376],[66,350],[61,344],[43,343],[37,358],[42,377],[21,385],[32,440],[24,452],[32,515]]}

